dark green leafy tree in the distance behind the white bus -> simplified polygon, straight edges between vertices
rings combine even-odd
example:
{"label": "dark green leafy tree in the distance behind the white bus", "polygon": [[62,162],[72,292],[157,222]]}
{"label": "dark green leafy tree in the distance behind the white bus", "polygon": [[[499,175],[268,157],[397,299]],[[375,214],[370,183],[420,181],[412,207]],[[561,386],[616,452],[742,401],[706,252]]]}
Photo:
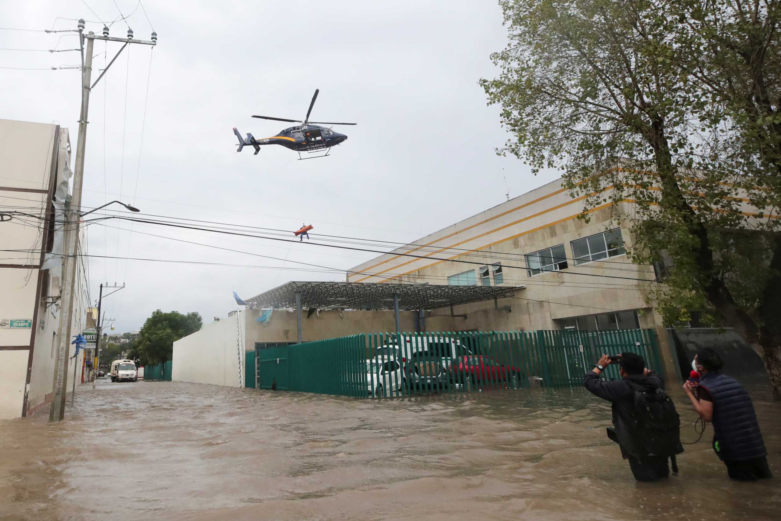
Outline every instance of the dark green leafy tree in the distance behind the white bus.
{"label": "dark green leafy tree in the distance behind the white bus", "polygon": [[137,353],[144,364],[156,364],[170,360],[173,342],[201,329],[203,321],[198,312],[183,315],[178,311],[164,313],[159,309],[152,313],[138,334]]}

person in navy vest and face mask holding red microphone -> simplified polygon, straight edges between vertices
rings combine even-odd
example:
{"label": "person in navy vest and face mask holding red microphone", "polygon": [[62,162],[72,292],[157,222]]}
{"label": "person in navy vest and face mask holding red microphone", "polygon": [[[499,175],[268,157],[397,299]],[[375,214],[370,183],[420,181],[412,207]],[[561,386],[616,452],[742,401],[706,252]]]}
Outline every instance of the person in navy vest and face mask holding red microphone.
{"label": "person in navy vest and face mask holding red microphone", "polygon": [[747,391],[732,376],[721,372],[722,359],[713,348],[698,350],[691,366],[701,374],[700,384],[687,381],[683,391],[697,414],[713,424],[713,450],[727,467],[729,477],[741,481],[771,478],[768,451]]}

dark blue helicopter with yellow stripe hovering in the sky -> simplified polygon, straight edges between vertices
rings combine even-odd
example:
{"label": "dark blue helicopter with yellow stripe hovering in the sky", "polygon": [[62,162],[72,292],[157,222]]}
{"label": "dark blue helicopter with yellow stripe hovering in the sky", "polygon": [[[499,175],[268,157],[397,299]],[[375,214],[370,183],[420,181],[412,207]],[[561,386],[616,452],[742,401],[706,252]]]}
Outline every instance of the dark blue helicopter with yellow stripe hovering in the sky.
{"label": "dark blue helicopter with yellow stripe hovering in the sky", "polygon": [[[290,123],[301,123],[296,127],[288,127],[284,130],[280,130],[276,136],[263,137],[262,139],[255,139],[252,134],[247,134],[247,139],[241,137],[241,134],[236,127],[234,127],[234,134],[239,138],[239,148],[236,152],[241,152],[241,149],[247,146],[255,148],[255,154],[260,152],[260,145],[282,145],[285,148],[290,148],[298,152],[298,159],[314,159],[316,157],[325,157],[329,154],[330,148],[333,145],[339,145],[347,139],[344,134],[334,132],[330,128],[320,127],[320,125],[357,125],[358,123],[333,123],[323,121],[309,122],[309,114],[312,113],[312,107],[315,105],[315,100],[320,89],[315,89],[315,95],[312,96],[312,102],[309,103],[309,110],[306,112],[306,117],[301,120],[287,120],[285,118],[273,118],[271,116],[252,116],[254,118],[260,118],[261,120],[274,120],[274,121],[287,121]],[[301,152],[307,152],[308,154],[323,152],[325,154],[315,155],[312,157],[301,157]]]}

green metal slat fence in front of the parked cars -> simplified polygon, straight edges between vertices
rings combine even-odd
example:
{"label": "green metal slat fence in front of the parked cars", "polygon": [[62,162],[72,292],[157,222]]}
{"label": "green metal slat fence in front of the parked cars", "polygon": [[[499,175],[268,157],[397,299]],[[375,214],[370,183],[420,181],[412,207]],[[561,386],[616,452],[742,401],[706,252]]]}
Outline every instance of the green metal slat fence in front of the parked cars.
{"label": "green metal slat fence in front of the parked cars", "polygon": [[603,352],[625,351],[661,369],[653,330],[470,331],[256,344],[255,376],[262,389],[364,398],[564,387],[580,385]]}

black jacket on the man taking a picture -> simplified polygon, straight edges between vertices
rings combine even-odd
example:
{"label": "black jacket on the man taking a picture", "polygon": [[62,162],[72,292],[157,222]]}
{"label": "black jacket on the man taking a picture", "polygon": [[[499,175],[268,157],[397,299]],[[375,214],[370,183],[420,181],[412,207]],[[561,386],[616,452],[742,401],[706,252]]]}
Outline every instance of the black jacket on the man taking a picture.
{"label": "black jacket on the man taking a picture", "polygon": [[654,371],[650,371],[647,376],[640,374],[629,375],[626,378],[622,378],[622,380],[612,381],[600,380],[597,373],[589,371],[586,373],[586,376],[583,376],[583,386],[591,394],[613,404],[613,425],[615,426],[615,434],[618,437],[623,459],[626,459],[627,455],[644,458],[648,455],[648,452],[637,441],[633,421],[635,412],[634,391],[632,387],[629,387],[627,380],[631,380],[637,387],[645,387],[646,391],[665,388],[662,378]]}

